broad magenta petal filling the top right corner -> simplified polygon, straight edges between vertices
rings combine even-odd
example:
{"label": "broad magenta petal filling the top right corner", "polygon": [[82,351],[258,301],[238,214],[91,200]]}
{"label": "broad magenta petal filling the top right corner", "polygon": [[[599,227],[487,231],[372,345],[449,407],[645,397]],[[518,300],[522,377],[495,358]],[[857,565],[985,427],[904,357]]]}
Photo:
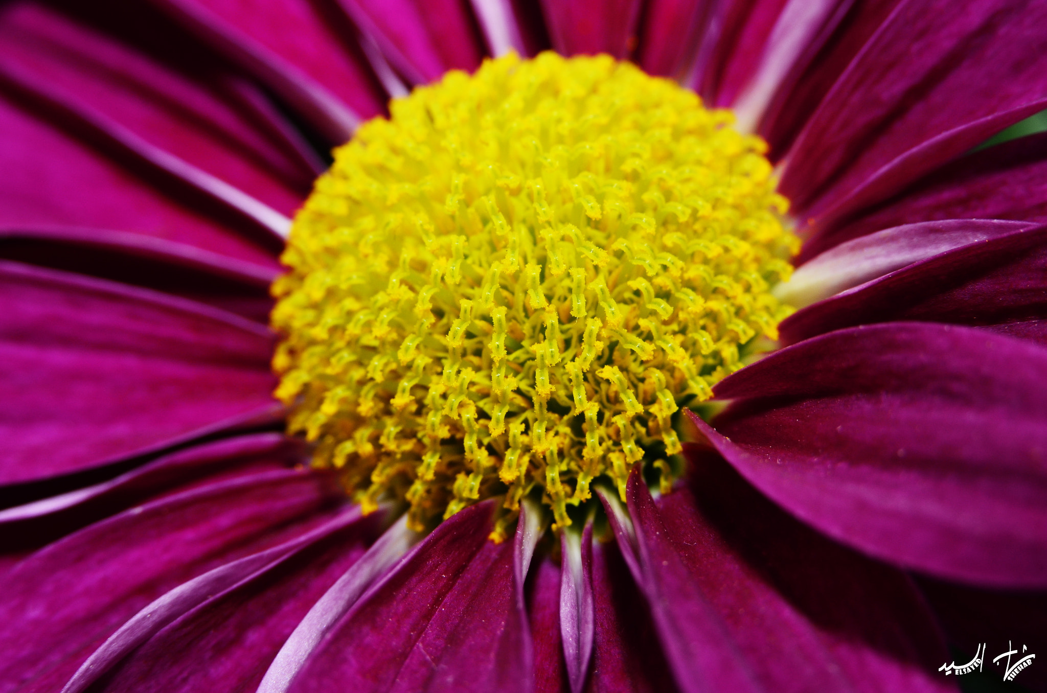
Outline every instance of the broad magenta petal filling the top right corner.
{"label": "broad magenta petal filling the top right corner", "polygon": [[1047,106],[1047,5],[952,8],[900,3],[825,96],[780,185],[802,219],[878,202]]}

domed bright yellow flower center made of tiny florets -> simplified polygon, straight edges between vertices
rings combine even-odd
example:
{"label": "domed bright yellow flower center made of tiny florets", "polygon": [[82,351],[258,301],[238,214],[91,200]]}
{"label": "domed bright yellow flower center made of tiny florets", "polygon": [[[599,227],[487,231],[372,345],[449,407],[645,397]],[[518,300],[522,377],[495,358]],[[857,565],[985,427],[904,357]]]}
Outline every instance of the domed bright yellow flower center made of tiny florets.
{"label": "domed bright yellow flower center made of tiny florets", "polygon": [[[365,510],[668,490],[681,406],[788,313],[765,144],[607,57],[487,61],[363,125],[294,220],[276,397]],[[497,538],[497,537],[496,537]]]}

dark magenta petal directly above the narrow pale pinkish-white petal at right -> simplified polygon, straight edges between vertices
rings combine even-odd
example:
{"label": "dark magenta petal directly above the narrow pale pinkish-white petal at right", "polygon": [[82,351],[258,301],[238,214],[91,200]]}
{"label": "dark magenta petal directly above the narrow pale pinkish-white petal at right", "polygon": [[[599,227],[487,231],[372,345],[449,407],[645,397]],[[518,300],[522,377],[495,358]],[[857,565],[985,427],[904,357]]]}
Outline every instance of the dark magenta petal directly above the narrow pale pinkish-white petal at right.
{"label": "dark magenta petal directly above the narrow pale pinkish-white petal at right", "polygon": [[849,239],[927,219],[1047,222],[1047,133],[970,154],[846,224],[810,239],[800,261]]}

